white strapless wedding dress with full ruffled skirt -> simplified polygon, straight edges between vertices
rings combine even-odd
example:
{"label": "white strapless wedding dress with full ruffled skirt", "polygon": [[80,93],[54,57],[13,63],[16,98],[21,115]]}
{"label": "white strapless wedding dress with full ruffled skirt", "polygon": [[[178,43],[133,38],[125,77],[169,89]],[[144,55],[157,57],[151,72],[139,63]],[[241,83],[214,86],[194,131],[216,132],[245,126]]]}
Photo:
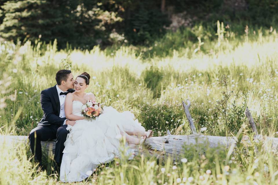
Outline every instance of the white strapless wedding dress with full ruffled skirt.
{"label": "white strapless wedding dress with full ruffled skirt", "polygon": [[[72,114],[82,116],[82,106],[80,101],[73,101]],[[80,182],[89,177],[97,165],[120,157],[120,132],[133,132],[134,128],[145,131],[131,112],[120,113],[111,106],[103,110],[95,120],[78,120],[73,127],[67,126],[70,132],[60,168],[62,182]],[[134,149],[127,150],[129,159],[133,158],[133,152]]]}

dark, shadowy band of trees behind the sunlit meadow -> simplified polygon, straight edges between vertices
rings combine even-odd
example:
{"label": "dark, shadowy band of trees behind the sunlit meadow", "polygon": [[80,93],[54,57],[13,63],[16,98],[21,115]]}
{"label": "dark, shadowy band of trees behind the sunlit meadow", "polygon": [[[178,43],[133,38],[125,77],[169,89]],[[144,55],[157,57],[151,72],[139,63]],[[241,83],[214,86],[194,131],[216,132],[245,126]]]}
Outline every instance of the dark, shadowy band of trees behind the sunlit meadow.
{"label": "dark, shadowy band of trees behind the sunlit meadow", "polygon": [[1,0],[0,37],[14,42],[57,39],[60,48],[67,43],[92,48],[123,40],[148,44],[166,32],[172,14],[181,12],[204,24],[220,20],[270,26],[277,22],[278,1]]}

